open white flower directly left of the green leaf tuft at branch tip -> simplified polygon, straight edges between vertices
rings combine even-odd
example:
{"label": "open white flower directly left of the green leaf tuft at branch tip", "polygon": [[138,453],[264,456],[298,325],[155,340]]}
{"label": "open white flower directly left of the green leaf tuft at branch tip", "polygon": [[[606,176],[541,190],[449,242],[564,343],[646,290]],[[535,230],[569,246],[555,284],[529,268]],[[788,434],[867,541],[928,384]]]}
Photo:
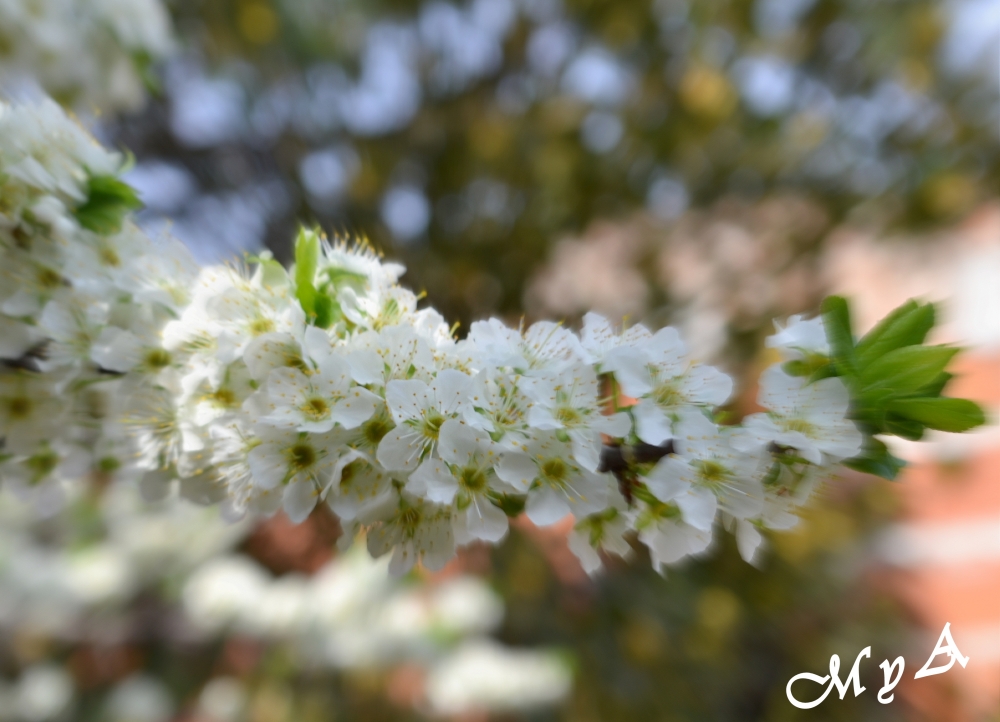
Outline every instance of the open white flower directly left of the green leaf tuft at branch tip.
{"label": "open white flower directly left of the green leaf tuft at branch tip", "polygon": [[768,411],[744,419],[733,438],[737,448],[750,451],[774,443],[796,449],[817,465],[861,451],[861,432],[847,418],[850,394],[839,378],[810,384],[775,365],[761,374],[757,400]]}

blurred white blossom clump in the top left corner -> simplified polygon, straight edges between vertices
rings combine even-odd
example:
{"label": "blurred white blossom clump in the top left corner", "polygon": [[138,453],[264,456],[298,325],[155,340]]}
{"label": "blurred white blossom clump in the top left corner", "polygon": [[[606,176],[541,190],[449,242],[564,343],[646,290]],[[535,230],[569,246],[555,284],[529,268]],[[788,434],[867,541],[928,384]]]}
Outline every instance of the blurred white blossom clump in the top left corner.
{"label": "blurred white blossom clump in the top left corner", "polygon": [[0,79],[31,77],[78,108],[139,108],[173,47],[160,0],[0,0]]}

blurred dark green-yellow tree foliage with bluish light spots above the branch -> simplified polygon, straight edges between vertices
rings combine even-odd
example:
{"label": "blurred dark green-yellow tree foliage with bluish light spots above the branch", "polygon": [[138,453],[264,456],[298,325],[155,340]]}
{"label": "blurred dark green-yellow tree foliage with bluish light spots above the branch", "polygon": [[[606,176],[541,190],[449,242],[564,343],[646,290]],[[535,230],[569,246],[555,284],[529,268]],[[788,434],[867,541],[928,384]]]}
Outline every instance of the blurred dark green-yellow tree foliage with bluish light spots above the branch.
{"label": "blurred dark green-yellow tree foliage with bluish light spots above the branch", "polygon": [[913,226],[1000,181],[994,88],[955,60],[952,10],[930,0],[173,10],[198,72],[238,85],[247,124],[185,145],[156,104],[119,138],[182,159],[205,191],[278,179],[280,256],[296,220],[367,233],[463,324],[516,314],[550,245],[595,218],[794,189],[834,221]]}

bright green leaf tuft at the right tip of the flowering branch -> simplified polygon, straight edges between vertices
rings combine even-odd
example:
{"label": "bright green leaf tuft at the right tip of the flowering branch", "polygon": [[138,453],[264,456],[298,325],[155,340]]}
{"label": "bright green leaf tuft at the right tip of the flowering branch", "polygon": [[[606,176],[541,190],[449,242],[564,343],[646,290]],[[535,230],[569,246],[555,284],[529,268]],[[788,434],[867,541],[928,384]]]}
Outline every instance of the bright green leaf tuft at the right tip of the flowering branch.
{"label": "bright green leaf tuft at the right tip of the flowering branch", "polygon": [[[926,429],[961,432],[986,422],[974,402],[941,396],[952,378],[948,364],[960,349],[924,345],[935,317],[933,304],[911,299],[855,341],[847,300],[831,296],[823,302],[832,363],[817,366],[813,361],[811,373],[815,377],[836,370],[851,391],[851,416],[865,434],[862,453],[845,462],[846,466],[895,479],[905,462],[875,435],[916,441]],[[806,365],[795,370],[805,371]]]}

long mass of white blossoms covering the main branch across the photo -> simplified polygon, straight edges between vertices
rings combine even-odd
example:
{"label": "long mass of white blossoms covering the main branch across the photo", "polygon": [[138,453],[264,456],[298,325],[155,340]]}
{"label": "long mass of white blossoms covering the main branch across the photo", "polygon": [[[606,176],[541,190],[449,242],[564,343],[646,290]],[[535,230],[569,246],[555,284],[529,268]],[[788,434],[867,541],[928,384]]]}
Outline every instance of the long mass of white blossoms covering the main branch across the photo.
{"label": "long mass of white blossoms covering the main branch across the photo", "polygon": [[[134,475],[149,497],[179,486],[231,518],[325,504],[397,574],[499,541],[521,511],[572,515],[588,570],[630,531],[660,567],[705,549],[717,520],[752,558],[759,529],[794,523],[860,449],[838,378],[776,366],[767,411],[721,426],[732,379],[675,329],[490,319],[458,340],[364,244],[303,231],[290,271],[195,269],[123,220],[119,168],[52,104],[0,115],[0,473],[43,508],[88,474]],[[799,358],[814,323],[774,345]],[[635,458],[609,471],[614,447]]]}

